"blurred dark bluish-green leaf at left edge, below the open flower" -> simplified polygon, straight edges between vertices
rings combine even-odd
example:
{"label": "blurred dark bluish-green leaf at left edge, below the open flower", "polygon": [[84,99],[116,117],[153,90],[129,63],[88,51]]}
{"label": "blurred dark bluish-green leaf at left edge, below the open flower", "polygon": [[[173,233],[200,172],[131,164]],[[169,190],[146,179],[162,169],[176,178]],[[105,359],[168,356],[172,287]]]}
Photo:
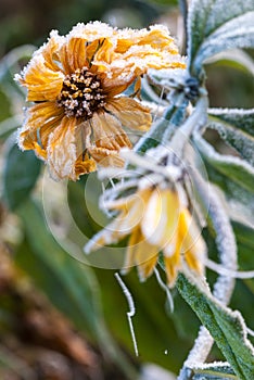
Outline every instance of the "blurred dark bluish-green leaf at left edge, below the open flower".
{"label": "blurred dark bluish-green leaf at left edge, below the open flower", "polygon": [[34,189],[41,162],[31,151],[22,152],[11,143],[3,172],[3,198],[11,210],[17,208]]}

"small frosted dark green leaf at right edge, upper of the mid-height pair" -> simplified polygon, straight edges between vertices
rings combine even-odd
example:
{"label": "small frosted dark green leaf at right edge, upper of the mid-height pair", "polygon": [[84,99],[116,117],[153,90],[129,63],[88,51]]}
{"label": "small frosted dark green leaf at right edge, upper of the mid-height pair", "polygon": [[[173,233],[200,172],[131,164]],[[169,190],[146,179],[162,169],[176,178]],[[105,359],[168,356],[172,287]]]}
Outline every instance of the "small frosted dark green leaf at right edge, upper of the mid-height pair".
{"label": "small frosted dark green leaf at right edge, upper of the mid-height pair", "polygon": [[242,159],[251,165],[254,164],[254,138],[233,126],[226,123],[209,121],[208,128],[217,130],[221,139],[234,148]]}

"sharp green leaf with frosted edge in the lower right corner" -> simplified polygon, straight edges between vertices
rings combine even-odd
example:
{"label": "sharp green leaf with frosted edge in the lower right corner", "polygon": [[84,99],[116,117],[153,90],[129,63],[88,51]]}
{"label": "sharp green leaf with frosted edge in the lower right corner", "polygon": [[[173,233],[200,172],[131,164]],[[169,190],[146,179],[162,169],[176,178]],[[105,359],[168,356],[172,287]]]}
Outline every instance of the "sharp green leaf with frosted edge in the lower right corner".
{"label": "sharp green leaf with frosted edge in the lower right corner", "polygon": [[178,276],[177,288],[209,331],[239,379],[250,380],[254,373],[254,352],[246,339],[240,313],[220,305],[211,293],[198,288],[182,274]]}

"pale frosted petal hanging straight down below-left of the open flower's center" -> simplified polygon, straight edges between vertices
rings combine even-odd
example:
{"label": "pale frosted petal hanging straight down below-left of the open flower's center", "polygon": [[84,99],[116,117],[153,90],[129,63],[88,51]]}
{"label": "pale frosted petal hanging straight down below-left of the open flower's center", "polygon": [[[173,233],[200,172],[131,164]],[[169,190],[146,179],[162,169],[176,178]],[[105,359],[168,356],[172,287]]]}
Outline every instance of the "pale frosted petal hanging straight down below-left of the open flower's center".
{"label": "pale frosted petal hanging straight down below-left of the open flower's center", "polygon": [[76,180],[76,119],[63,117],[60,126],[49,136],[48,164],[54,179]]}

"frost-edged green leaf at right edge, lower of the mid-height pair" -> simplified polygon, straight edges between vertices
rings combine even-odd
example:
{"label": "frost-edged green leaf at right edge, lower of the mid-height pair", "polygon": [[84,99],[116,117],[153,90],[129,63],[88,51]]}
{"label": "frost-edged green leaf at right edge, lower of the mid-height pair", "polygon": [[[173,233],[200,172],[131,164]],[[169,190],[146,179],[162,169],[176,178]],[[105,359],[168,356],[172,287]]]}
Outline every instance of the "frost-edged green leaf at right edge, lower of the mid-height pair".
{"label": "frost-edged green leaf at right edge, lower of the mid-height pair", "polygon": [[243,189],[254,192],[254,168],[245,161],[231,155],[221,155],[195,132],[193,137],[194,143],[200,151],[202,157],[214,166],[219,173],[229,177]]}

